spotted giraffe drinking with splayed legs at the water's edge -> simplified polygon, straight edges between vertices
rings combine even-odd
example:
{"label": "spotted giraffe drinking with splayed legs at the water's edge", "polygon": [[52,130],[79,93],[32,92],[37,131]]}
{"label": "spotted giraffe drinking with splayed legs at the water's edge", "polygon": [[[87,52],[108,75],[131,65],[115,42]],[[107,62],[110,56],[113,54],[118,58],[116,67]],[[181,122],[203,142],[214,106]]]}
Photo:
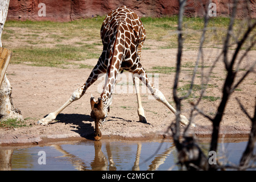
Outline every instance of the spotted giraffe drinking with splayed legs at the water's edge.
{"label": "spotted giraffe drinking with splayed legs at the water's edge", "polygon": [[[106,74],[105,85],[101,96],[96,100],[93,96],[90,98],[91,117],[95,122],[94,139],[100,140],[102,137],[101,129],[104,122],[107,121],[109,106],[112,104],[112,91],[117,80],[118,72],[123,70],[133,74],[133,81],[138,101],[139,121],[147,123],[144,115],[144,109],[141,104],[139,94],[139,81],[147,86],[152,96],[176,114],[176,110],[167,102],[163,93],[154,88],[148,80],[147,74],[141,64],[141,50],[143,42],[146,39],[145,28],[139,19],[138,15],[133,10],[127,9],[126,6],[119,7],[110,12],[104,19],[101,26],[101,39],[103,51],[99,57],[97,64],[90,73],[88,79],[80,88],[73,92],[67,102],[53,113],[49,113],[46,118],[38,121],[41,125],[47,125],[53,121],[56,116],[65,107],[73,101],[79,100],[86,90],[92,85],[102,73]],[[187,118],[180,115],[181,123],[188,124]]]}

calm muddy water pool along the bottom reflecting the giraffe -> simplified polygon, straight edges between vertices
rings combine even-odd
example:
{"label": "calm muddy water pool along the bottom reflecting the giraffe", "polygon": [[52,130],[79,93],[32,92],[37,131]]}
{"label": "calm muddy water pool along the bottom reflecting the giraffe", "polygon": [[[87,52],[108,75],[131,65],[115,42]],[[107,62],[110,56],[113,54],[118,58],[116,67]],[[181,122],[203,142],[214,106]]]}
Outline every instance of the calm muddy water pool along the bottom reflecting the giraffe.
{"label": "calm muddy water pool along the bottom reflecting the giraffe", "polygon": [[[218,155],[238,164],[247,142],[224,143]],[[205,154],[209,144],[200,143]],[[225,150],[222,151],[222,148]],[[178,170],[172,142],[104,141],[1,147],[0,170]]]}

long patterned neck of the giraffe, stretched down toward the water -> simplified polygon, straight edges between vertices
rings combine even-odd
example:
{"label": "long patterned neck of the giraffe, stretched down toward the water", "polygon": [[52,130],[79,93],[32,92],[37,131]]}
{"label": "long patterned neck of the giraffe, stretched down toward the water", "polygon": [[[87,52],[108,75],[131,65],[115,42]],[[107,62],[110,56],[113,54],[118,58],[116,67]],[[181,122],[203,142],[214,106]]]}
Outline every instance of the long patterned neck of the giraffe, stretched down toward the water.
{"label": "long patterned neck of the giraffe, stretched down toward the water", "polygon": [[112,92],[114,89],[115,81],[117,80],[117,75],[119,68],[121,67],[123,59],[123,49],[124,44],[121,43],[121,24],[119,23],[117,27],[117,32],[113,38],[113,46],[110,46],[109,51],[109,64],[106,72],[106,80],[104,85],[104,90],[101,94],[102,101],[104,103],[105,109],[109,107],[112,101]]}

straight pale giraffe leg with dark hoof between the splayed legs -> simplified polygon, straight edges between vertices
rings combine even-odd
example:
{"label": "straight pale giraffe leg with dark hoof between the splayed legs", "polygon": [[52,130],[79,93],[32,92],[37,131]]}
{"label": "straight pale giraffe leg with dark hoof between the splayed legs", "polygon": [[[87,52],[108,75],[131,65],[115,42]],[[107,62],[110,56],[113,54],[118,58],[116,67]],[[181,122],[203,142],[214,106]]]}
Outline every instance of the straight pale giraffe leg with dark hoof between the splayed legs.
{"label": "straight pale giraffe leg with dark hoof between the splayed legs", "polygon": [[138,101],[139,122],[147,123],[147,119],[146,119],[145,114],[144,114],[144,109],[143,109],[142,104],[141,104],[141,95],[139,94],[139,78],[135,77],[133,75],[133,82],[134,82],[135,91],[136,91],[136,95],[137,95],[137,101]]}

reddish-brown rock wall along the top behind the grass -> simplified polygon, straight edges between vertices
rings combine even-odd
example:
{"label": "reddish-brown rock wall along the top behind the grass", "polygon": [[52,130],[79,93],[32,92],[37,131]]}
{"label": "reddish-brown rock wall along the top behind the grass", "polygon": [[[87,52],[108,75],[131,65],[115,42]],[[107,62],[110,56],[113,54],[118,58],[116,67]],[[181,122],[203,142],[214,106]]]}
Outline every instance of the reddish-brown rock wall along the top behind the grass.
{"label": "reddish-brown rock wall along the top behind the grass", "polygon": [[[204,7],[208,7],[208,1],[192,1],[188,0],[184,15],[186,16],[203,16]],[[216,3],[217,16],[229,16],[231,15],[232,7],[228,0],[217,1]],[[42,6],[39,3],[46,5],[46,16],[39,16],[42,13]],[[32,0],[12,0],[9,5],[9,12],[7,19],[14,20],[51,20],[58,22],[67,22],[80,18],[90,18],[95,16],[105,16],[111,10],[116,9],[119,6],[126,5],[130,9],[134,10],[140,17],[142,16],[170,16],[177,15],[179,13],[179,2],[170,0],[156,0],[156,1],[110,1],[110,0],[44,0],[44,1],[32,1]],[[250,1],[251,17],[256,18],[256,5],[253,1]],[[238,2],[236,16],[242,18],[247,16],[248,10],[244,1]]]}

